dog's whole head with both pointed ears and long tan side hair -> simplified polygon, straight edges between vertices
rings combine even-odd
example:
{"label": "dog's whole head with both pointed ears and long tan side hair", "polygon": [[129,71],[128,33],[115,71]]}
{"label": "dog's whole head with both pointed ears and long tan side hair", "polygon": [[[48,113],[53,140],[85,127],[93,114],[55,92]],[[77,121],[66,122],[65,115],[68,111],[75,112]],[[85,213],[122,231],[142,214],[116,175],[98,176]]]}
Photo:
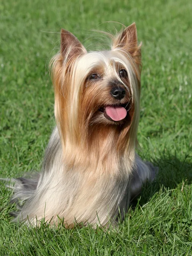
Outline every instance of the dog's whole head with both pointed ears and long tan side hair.
{"label": "dog's whole head with both pointed ears and long tan side hair", "polygon": [[141,71],[135,23],[113,38],[110,51],[102,52],[87,52],[61,29],[61,52],[52,63],[55,117],[64,144],[82,143],[94,127],[100,135],[107,128],[115,131],[118,138],[129,132],[135,142]]}

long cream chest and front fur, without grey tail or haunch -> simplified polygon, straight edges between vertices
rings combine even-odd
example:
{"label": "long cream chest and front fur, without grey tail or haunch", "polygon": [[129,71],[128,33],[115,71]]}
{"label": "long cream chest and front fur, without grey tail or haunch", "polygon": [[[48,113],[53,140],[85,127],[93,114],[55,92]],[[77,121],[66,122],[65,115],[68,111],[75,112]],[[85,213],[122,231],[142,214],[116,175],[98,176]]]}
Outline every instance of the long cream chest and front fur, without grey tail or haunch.
{"label": "long cream chest and front fur, without grey tail or haunch", "polygon": [[[34,215],[52,222],[58,221],[58,216],[64,216],[67,226],[73,225],[74,216],[77,223],[100,223],[106,225],[109,219],[114,220],[119,215],[123,218],[124,209],[128,208],[130,200],[130,179],[112,177],[105,173],[96,175],[97,170],[86,166],[78,169],[68,169],[62,160],[62,148],[58,130],[52,133],[43,166],[43,175],[38,182],[38,198],[30,200]],[[47,172],[49,170],[49,172]],[[61,173],[58,173],[60,170]],[[34,203],[33,203],[34,201]],[[38,208],[35,202],[38,201]],[[118,206],[118,207],[117,207]],[[57,215],[55,215],[57,212]]]}

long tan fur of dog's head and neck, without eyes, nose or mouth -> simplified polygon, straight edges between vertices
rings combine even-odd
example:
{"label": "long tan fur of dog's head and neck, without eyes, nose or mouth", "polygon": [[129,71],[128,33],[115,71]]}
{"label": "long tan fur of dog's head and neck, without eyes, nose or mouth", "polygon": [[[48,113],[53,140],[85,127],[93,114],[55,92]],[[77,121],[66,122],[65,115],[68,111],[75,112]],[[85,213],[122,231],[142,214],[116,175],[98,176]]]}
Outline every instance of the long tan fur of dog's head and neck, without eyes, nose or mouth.
{"label": "long tan fur of dog's head and neck, without eyes, nose or mouth", "polygon": [[[120,156],[126,154],[134,163],[140,108],[139,56],[135,24],[114,37],[111,51],[104,52],[87,53],[75,36],[61,29],[61,52],[53,58],[52,74],[55,118],[67,163],[74,165],[74,160],[69,159],[74,148],[84,152],[79,161],[76,159],[78,165],[89,165],[87,161],[95,163],[97,159],[105,166],[111,157],[111,175],[119,172],[113,162],[118,162]],[[127,81],[120,80],[120,68],[127,70]],[[92,73],[99,73],[102,79],[87,81]],[[131,102],[130,120],[124,125],[114,125],[97,113],[100,106],[115,104],[108,85],[114,79],[123,82],[129,93],[121,103]],[[108,172],[108,168],[98,171]]]}

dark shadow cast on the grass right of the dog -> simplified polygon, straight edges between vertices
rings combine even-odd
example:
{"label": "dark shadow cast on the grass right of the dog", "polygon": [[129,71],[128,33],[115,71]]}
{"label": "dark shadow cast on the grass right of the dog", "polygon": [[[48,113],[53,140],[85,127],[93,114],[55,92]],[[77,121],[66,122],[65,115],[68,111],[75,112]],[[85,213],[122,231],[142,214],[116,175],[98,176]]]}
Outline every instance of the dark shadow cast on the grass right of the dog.
{"label": "dark shadow cast on the grass right of the dog", "polygon": [[[166,189],[175,189],[178,184],[189,185],[192,183],[192,161],[189,155],[183,161],[177,156],[161,157],[153,162],[159,167],[157,178],[153,183],[147,183],[140,194],[140,205],[146,204],[148,200],[158,192],[162,186]],[[131,202],[134,207],[138,203],[138,197]]]}

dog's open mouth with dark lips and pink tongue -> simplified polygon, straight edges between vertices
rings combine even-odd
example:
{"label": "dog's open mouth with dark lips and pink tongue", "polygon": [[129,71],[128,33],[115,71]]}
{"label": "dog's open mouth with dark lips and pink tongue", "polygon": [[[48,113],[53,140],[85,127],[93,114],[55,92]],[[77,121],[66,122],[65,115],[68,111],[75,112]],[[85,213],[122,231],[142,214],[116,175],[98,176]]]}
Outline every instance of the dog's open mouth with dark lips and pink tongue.
{"label": "dog's open mouth with dark lips and pink tongue", "polygon": [[129,103],[125,103],[122,105],[106,105],[102,108],[99,108],[99,111],[104,113],[105,118],[114,122],[125,119],[129,110]]}

